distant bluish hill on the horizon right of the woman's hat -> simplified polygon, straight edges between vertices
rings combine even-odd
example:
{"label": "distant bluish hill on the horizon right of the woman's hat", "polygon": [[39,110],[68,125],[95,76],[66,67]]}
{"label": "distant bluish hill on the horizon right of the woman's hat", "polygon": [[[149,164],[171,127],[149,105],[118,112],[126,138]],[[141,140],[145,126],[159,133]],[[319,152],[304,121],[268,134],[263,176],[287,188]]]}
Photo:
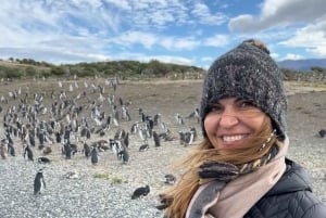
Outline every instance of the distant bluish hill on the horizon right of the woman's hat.
{"label": "distant bluish hill on the horizon right of the woman's hat", "polygon": [[283,68],[310,70],[313,66],[326,68],[326,59],[285,60],[277,64]]}

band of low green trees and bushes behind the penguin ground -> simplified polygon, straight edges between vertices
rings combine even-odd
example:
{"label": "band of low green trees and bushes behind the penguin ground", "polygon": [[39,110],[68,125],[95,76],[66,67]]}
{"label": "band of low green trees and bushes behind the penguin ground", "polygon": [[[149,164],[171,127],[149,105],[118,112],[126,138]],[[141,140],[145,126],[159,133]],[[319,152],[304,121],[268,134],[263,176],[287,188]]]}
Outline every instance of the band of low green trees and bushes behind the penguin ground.
{"label": "band of low green trees and bushes behind the penguin ground", "polygon": [[[5,63],[5,64],[3,64]],[[9,64],[8,64],[9,63]],[[310,70],[299,72],[281,68],[285,80],[323,81],[326,82],[326,69],[318,66]],[[32,59],[13,59],[0,62],[1,79],[30,79],[30,78],[85,78],[85,77],[118,77],[120,79],[199,79],[205,69],[197,66],[162,63],[151,60],[148,63],[138,61],[108,61],[93,63],[77,63],[54,65],[47,62],[37,62]]]}

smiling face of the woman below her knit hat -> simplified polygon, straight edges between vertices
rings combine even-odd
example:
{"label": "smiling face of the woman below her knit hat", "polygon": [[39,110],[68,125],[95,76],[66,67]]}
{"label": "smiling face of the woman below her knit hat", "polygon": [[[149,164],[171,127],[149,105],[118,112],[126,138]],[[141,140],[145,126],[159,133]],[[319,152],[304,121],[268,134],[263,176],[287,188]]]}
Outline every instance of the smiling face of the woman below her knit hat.
{"label": "smiling face of the woman below her knit hat", "polygon": [[241,146],[263,125],[266,114],[237,98],[218,100],[204,118],[204,129],[215,149]]}

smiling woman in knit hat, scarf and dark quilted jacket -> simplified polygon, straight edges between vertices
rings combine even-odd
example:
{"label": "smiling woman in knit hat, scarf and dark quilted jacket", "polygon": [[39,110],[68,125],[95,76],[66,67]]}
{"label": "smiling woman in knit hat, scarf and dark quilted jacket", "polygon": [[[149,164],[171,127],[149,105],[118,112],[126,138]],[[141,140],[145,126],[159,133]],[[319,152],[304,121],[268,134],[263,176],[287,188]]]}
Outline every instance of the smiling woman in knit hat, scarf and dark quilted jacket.
{"label": "smiling woman in knit hat, scarf and dark quilted jacket", "polygon": [[262,42],[217,59],[203,85],[203,141],[158,208],[168,218],[326,218],[306,172],[286,158],[286,111],[283,75]]}

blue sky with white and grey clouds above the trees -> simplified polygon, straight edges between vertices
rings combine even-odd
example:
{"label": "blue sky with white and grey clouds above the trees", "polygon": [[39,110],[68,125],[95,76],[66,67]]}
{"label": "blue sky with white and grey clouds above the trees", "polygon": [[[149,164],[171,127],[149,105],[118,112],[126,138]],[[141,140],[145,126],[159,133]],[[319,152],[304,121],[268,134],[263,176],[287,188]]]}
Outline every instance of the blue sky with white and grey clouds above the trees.
{"label": "blue sky with white and grey clouds above the trees", "polygon": [[326,57],[325,0],[9,0],[0,59],[131,60],[208,68],[241,41],[276,61]]}

